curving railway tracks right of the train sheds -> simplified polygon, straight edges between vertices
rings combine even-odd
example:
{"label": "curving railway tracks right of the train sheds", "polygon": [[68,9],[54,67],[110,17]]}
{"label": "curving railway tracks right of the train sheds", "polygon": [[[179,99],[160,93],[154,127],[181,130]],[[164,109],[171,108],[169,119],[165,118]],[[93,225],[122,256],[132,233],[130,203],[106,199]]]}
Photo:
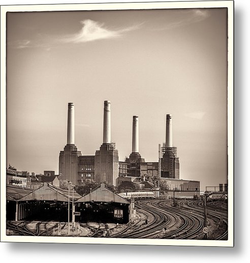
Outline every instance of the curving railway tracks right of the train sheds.
{"label": "curving railway tracks right of the train sheds", "polygon": [[[202,239],[204,234],[203,202],[180,202],[180,207],[172,207],[169,200],[143,200],[137,202],[137,211],[144,213],[148,224],[140,227],[129,226],[111,235],[112,238],[157,238],[157,239]],[[227,228],[227,213],[208,208],[211,220],[224,216],[223,222]],[[137,222],[138,224],[138,222]],[[163,229],[167,232],[163,234]],[[227,230],[215,240],[227,239]]]}

